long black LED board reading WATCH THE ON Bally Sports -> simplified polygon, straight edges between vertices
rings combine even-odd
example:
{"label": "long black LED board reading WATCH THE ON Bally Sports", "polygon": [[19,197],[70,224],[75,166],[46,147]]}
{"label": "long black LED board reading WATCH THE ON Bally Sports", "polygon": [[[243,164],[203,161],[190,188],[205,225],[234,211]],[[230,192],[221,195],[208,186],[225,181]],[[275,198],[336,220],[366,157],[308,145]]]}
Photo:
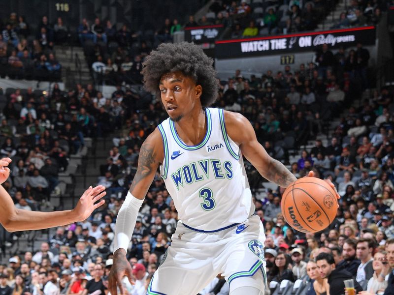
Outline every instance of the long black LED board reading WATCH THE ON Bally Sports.
{"label": "long black LED board reading WATCH THE ON Bally Sports", "polygon": [[285,52],[314,51],[324,43],[330,48],[340,46],[374,45],[375,27],[333,29],[327,31],[295,33],[267,37],[219,40],[215,42],[215,58],[243,58],[273,55]]}

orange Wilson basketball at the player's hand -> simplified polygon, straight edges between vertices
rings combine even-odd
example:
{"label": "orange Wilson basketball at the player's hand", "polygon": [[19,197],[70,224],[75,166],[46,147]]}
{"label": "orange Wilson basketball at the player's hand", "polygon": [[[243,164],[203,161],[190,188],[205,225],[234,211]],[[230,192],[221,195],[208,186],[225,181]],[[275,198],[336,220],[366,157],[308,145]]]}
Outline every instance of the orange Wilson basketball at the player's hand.
{"label": "orange Wilson basketball at the player's hand", "polygon": [[302,177],[286,188],[281,209],[292,228],[317,233],[331,224],[338,208],[335,192],[327,181]]}

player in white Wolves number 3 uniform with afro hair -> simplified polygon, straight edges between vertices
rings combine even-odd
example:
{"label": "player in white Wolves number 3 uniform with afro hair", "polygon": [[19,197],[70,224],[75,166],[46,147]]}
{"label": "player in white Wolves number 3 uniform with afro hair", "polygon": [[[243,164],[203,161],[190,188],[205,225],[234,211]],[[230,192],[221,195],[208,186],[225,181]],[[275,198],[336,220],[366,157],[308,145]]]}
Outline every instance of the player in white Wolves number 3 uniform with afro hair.
{"label": "player in white Wolves number 3 uniform with afro hair", "polygon": [[212,59],[192,43],[164,43],[144,61],[145,89],[161,97],[169,118],[142,144],[138,168],[115,226],[109,291],[125,294],[132,282],[127,248],[145,195],[157,169],[174,200],[180,221],[148,295],[194,295],[218,274],[231,295],[261,295],[266,283],[264,230],[242,156],[279,186],[296,180],[271,158],[240,114],[208,108],[218,85]]}

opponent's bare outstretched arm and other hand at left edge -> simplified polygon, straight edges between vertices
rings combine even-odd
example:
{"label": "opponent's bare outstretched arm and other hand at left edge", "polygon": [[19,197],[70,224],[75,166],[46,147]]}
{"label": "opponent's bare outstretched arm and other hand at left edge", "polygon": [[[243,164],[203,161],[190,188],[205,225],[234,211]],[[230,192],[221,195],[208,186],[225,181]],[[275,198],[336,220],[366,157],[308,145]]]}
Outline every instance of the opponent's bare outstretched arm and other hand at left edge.
{"label": "opponent's bare outstretched arm and other hand at left edge", "polygon": [[[11,163],[10,158],[0,160],[0,184],[9,177],[10,170],[7,167],[9,163]],[[41,230],[83,221],[92,214],[93,210],[104,204],[104,200],[95,204],[105,196],[104,189],[105,187],[101,185],[89,187],[72,210],[38,212],[15,208],[10,195],[0,185],[0,224],[8,232],[16,232]]]}

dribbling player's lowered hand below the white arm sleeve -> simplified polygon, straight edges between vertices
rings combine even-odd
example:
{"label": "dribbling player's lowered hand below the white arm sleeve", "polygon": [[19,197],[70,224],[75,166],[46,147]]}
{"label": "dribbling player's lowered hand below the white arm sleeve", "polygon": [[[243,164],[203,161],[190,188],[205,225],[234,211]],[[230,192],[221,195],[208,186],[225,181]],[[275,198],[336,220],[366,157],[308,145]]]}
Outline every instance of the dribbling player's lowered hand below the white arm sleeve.
{"label": "dribbling player's lowered hand below the white arm sleeve", "polygon": [[122,284],[122,278],[124,276],[128,277],[131,285],[134,285],[131,265],[127,261],[125,250],[121,248],[114,253],[111,271],[108,276],[108,291],[111,295],[118,294],[117,287],[119,288],[120,294],[126,294]]}

